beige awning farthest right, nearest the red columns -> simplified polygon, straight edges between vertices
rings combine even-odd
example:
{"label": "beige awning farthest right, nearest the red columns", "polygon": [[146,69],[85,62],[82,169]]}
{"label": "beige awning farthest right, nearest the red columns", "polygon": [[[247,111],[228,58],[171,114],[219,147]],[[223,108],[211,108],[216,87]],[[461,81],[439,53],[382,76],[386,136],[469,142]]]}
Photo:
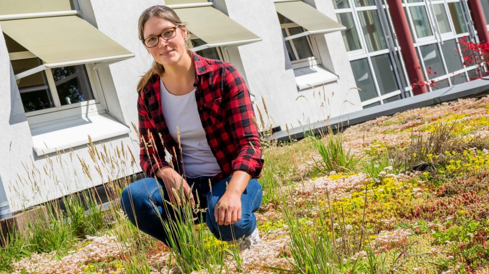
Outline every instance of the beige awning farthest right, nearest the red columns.
{"label": "beige awning farthest right, nearest the red columns", "polygon": [[346,30],[346,27],[301,0],[275,2],[275,9],[306,30],[304,33],[288,36],[285,40],[309,34],[327,34]]}

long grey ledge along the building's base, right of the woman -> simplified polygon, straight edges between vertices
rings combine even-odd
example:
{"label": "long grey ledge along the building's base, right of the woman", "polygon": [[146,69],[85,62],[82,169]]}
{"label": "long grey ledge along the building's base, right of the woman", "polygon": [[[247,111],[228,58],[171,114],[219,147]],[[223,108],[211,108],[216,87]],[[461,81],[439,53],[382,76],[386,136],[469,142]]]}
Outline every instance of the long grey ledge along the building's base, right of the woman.
{"label": "long grey ledge along the building's base, right of the woman", "polygon": [[345,129],[348,126],[360,124],[368,120],[376,119],[381,116],[390,116],[409,109],[415,109],[439,103],[453,101],[459,98],[480,97],[489,94],[489,76],[484,78],[443,88],[437,91],[416,95],[406,99],[381,104],[378,106],[362,109],[347,113],[341,116],[330,118],[328,121],[320,121],[300,127],[289,129],[290,137],[287,132],[282,130],[274,133],[271,138],[279,141],[291,139],[302,139],[306,132],[319,134],[325,132],[328,127],[333,131]]}

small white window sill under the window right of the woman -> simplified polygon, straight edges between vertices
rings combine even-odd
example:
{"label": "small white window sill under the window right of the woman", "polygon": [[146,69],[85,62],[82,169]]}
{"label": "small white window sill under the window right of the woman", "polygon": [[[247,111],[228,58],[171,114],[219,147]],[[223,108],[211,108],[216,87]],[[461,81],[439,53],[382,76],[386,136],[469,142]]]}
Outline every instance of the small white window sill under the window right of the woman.
{"label": "small white window sill under the window right of the woman", "polygon": [[317,65],[302,69],[294,69],[294,75],[299,90],[335,82],[339,79],[336,74]]}

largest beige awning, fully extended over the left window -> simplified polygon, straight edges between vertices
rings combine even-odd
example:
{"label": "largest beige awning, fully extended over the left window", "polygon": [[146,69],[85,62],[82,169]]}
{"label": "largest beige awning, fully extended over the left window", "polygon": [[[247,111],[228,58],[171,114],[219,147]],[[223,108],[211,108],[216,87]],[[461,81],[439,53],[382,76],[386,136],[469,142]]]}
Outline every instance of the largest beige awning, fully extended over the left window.
{"label": "largest beige awning, fully extended over the left window", "polygon": [[116,62],[134,54],[75,15],[0,21],[1,30],[46,64],[21,72],[17,79],[46,68]]}

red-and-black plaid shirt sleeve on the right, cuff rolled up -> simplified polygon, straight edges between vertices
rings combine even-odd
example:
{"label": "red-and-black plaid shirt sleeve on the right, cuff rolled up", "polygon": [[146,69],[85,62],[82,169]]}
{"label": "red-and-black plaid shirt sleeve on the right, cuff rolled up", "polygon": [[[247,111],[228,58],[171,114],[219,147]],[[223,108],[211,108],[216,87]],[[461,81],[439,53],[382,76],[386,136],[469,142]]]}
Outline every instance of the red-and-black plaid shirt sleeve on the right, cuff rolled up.
{"label": "red-and-black plaid shirt sleeve on the right, cuff rolled up", "polygon": [[246,171],[252,178],[258,178],[264,160],[258,130],[253,123],[255,113],[243,77],[232,65],[226,67],[224,86],[229,94],[226,113],[238,148],[238,155],[231,163],[232,172]]}

